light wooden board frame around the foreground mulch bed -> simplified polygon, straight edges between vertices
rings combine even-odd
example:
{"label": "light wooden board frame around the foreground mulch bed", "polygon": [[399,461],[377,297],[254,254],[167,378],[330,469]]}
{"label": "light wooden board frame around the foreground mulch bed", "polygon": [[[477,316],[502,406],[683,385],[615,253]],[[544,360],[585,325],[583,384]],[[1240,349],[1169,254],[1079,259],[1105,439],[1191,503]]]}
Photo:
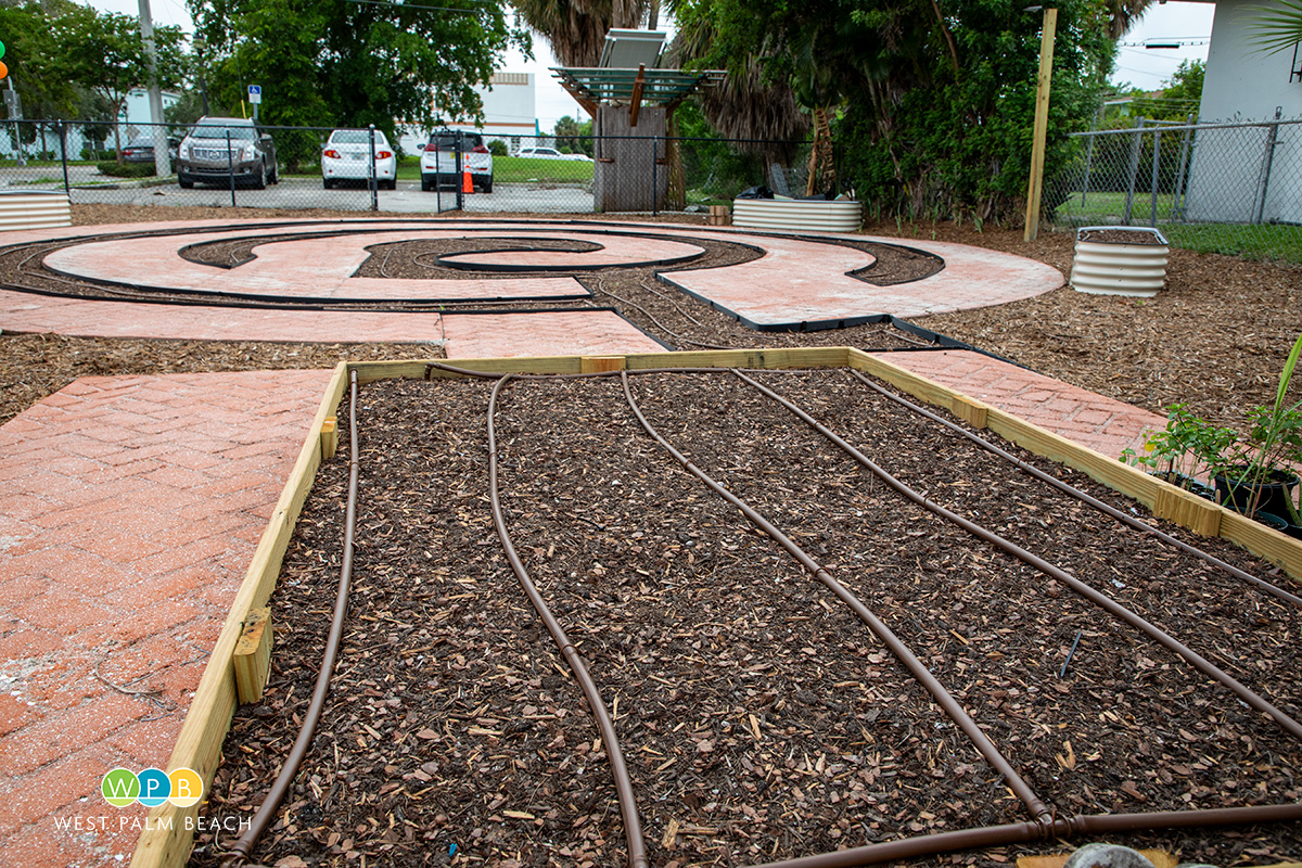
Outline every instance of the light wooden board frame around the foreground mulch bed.
{"label": "light wooden board frame around the foreground mulch bed", "polygon": [[[430,360],[495,373],[581,373],[659,367],[854,368],[927,403],[949,410],[975,428],[988,428],[1038,455],[1079,470],[1113,491],[1139,501],[1159,518],[1170,519],[1203,536],[1221,536],[1280,565],[1294,579],[1302,579],[1302,543],[1124,465],[1116,458],[1087,449],[997,407],[897,367],[880,355],[870,355],[850,347],[341,362],[322,397],[298,461],[267,530],[263,531],[243,583],[236,592],[168,760],[169,772],[177,768],[194,769],[203,777],[204,787],[211,786],[237,698],[262,695],[272,635],[272,631],[266,629],[268,622],[264,609],[275,590],[281,560],[293,536],[298,513],[311,491],[316,470],[323,459],[335,454],[339,442],[335,414],[346,393],[350,372],[357,371],[359,384],[387,379],[423,379]],[[432,376],[443,379],[457,375],[434,370]],[[176,808],[171,803],[152,809],[146,830],[137,843],[132,867],[164,868],[185,864],[194,839],[193,820],[198,809],[198,806]]]}

